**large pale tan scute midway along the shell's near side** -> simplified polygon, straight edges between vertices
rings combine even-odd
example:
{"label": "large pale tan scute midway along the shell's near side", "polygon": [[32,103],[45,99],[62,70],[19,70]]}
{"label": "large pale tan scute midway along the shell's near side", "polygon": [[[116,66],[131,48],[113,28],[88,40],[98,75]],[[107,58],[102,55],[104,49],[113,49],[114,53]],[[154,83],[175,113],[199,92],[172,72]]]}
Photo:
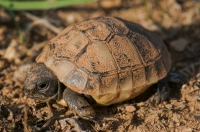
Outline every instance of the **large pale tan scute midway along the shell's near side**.
{"label": "large pale tan scute midway along the shell's near side", "polygon": [[93,73],[104,73],[117,69],[109,49],[102,41],[88,45],[86,51],[75,63]]}

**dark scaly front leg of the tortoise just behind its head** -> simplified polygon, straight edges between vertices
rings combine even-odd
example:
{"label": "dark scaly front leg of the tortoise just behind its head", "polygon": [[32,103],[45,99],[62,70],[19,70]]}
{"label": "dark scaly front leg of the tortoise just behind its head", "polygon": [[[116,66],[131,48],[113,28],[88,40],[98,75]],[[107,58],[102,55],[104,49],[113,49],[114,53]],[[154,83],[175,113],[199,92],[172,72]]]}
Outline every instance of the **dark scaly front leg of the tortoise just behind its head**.
{"label": "dark scaly front leg of the tortoise just behind its head", "polygon": [[63,98],[69,108],[75,111],[78,116],[86,120],[95,121],[96,113],[82,94],[66,88],[63,93]]}

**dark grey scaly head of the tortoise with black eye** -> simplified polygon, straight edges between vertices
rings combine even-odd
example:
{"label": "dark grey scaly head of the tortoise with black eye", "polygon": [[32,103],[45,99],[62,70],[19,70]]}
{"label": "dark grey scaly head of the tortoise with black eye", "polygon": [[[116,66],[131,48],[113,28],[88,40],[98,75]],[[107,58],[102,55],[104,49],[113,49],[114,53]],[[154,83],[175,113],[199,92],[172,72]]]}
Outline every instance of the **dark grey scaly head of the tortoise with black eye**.
{"label": "dark grey scaly head of the tortoise with black eye", "polygon": [[44,64],[33,64],[27,72],[24,89],[30,98],[40,101],[57,99],[59,83],[56,75]]}

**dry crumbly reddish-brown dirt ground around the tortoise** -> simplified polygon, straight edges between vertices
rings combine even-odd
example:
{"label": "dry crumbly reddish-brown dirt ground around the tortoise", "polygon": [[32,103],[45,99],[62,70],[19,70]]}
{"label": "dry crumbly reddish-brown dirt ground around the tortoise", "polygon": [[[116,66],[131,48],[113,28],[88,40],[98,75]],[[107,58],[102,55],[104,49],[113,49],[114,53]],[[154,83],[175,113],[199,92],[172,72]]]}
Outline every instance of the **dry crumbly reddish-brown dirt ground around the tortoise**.
{"label": "dry crumbly reddish-brown dirt ground around the tortoise", "polygon": [[[45,11],[0,9],[0,131],[200,131],[200,3],[116,1]],[[152,86],[136,99],[95,107],[99,124],[82,120],[53,102],[50,111],[46,103],[28,98],[23,89],[26,64],[34,62],[44,44],[60,30],[98,16],[121,17],[156,32],[171,54],[172,71],[186,68],[188,83],[170,85],[170,99],[157,106],[145,103],[156,91]]]}

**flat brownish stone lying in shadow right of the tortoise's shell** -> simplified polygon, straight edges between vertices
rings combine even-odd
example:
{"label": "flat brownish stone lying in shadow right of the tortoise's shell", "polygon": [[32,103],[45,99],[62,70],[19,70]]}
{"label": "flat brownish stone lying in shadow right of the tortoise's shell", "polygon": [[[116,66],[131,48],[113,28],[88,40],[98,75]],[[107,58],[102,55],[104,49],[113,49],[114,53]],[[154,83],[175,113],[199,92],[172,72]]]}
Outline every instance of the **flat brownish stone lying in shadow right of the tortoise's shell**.
{"label": "flat brownish stone lying in shadow right of the tortoise's shell", "polygon": [[189,41],[184,38],[179,38],[170,42],[170,47],[175,51],[183,51],[185,47],[189,44]]}

